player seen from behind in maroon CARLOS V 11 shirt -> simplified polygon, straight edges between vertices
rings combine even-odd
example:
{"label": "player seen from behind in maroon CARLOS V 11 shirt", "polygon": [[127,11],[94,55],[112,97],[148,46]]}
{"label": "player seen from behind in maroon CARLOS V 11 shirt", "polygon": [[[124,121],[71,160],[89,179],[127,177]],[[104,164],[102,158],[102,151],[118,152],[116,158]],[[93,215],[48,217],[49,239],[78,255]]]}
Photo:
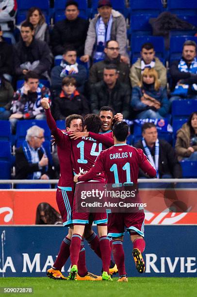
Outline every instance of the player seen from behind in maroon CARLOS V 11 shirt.
{"label": "player seen from behind in maroon CARLOS V 11 shirt", "polygon": [[[129,126],[126,122],[117,122],[113,127],[115,145],[101,151],[94,166],[84,175],[76,175],[74,181],[88,181],[99,172],[105,172],[106,183],[137,183],[139,167],[150,177],[156,176],[155,168],[150,164],[142,149],[126,144]],[[125,228],[130,232],[133,243],[132,255],[139,273],[145,271],[142,252],[145,249],[143,210],[135,213],[112,213],[108,220],[108,236],[113,238],[113,255],[118,267],[119,280],[127,282],[122,246]]]}

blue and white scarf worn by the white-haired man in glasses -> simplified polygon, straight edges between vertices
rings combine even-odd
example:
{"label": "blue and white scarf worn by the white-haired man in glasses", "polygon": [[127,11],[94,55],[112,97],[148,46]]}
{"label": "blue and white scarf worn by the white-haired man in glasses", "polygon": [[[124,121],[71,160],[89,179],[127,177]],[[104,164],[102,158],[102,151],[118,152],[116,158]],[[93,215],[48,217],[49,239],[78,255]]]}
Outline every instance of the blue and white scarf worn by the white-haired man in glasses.
{"label": "blue and white scarf worn by the white-haired man in glasses", "polygon": [[[47,153],[46,153],[46,150],[43,146],[41,146],[40,148],[38,149],[41,149],[43,151],[43,154],[45,154],[45,156],[47,156]],[[36,154],[33,154],[33,150],[32,148],[30,147],[29,143],[24,140],[23,141],[23,151],[24,151],[24,154],[25,154],[25,157],[28,161],[28,163],[30,164],[33,164],[33,163],[38,163],[40,160],[39,160],[39,155],[38,155],[38,149],[37,149],[37,157]],[[48,170],[48,166],[45,166],[45,172]],[[33,173],[30,173],[27,177],[28,180],[39,180],[41,177],[41,172],[40,171],[36,171],[36,172],[33,172]]]}

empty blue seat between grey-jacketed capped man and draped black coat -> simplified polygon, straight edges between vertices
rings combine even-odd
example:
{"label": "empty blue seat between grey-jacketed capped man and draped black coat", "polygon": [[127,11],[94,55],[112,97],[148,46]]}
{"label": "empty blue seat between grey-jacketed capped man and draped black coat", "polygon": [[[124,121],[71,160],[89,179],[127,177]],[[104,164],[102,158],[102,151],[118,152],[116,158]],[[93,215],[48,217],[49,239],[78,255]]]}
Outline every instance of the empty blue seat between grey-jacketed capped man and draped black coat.
{"label": "empty blue seat between grey-jacketed capped man and draped black coat", "polygon": [[137,35],[152,35],[152,27],[148,23],[150,17],[157,17],[155,15],[134,15],[131,16],[131,36]]}

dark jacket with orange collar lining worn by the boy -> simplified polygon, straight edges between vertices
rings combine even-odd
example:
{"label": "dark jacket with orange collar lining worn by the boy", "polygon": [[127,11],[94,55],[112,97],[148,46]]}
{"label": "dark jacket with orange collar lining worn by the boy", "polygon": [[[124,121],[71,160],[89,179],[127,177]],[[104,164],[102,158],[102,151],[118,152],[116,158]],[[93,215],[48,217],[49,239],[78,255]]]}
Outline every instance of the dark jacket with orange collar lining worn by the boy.
{"label": "dark jacket with orange collar lining worn by the boy", "polygon": [[84,96],[75,91],[72,98],[67,98],[64,91],[53,100],[53,116],[55,120],[66,119],[66,116],[77,114],[86,115],[90,111]]}

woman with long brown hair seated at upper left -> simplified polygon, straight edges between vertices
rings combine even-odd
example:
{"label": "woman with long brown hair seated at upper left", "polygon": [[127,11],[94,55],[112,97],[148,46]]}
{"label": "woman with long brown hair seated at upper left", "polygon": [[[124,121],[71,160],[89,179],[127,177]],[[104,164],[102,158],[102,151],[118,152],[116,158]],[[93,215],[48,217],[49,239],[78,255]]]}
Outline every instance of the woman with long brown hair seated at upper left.
{"label": "woman with long brown hair seated at upper left", "polygon": [[49,44],[49,28],[41,9],[31,7],[28,10],[26,21],[33,24],[35,39],[46,41]]}

